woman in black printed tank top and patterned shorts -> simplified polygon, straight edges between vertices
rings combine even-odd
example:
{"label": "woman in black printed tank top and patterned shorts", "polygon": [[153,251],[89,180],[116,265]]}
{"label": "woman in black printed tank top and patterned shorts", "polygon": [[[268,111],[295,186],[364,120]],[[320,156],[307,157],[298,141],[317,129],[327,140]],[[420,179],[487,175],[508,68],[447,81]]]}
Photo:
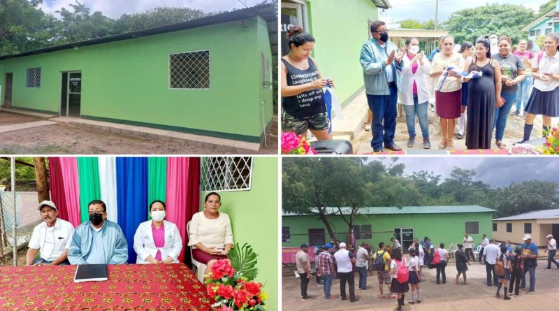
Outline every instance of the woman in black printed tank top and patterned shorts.
{"label": "woman in black printed tank top and patterned shorts", "polygon": [[282,57],[282,131],[305,137],[310,129],[319,140],[332,139],[322,88],[334,81],[324,79],[310,57],[314,45],[310,34],[293,27],[287,38],[291,50]]}

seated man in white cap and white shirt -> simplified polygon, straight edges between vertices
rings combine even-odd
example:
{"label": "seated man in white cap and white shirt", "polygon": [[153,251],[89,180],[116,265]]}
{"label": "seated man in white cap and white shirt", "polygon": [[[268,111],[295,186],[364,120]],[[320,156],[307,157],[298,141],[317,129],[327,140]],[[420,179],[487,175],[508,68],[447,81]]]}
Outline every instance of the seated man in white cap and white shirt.
{"label": "seated man in white cap and white shirt", "polygon": [[[52,201],[39,204],[43,222],[38,224],[29,240],[29,249],[25,257],[27,266],[68,265],[68,248],[72,242],[74,226],[58,217],[57,205]],[[39,250],[40,257],[37,256]]]}

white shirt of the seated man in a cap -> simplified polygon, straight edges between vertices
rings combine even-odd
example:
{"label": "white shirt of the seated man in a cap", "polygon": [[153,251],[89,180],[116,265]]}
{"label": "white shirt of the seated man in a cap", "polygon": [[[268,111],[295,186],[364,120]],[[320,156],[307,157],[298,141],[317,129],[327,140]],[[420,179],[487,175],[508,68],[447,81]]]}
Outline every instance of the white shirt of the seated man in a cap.
{"label": "white shirt of the seated man in a cap", "polygon": [[55,225],[47,226],[41,222],[33,229],[29,248],[39,249],[42,259],[55,261],[66,249],[70,248],[74,226],[66,220],[57,218]]}

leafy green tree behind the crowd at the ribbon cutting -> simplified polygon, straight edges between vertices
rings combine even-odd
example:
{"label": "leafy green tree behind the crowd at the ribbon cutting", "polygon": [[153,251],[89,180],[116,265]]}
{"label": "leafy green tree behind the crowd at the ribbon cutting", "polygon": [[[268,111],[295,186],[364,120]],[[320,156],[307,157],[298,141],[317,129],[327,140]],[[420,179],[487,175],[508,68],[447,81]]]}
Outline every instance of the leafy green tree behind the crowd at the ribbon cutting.
{"label": "leafy green tree behind the crowd at the ribbon cutting", "polygon": [[456,44],[472,41],[491,33],[507,35],[514,43],[525,38],[522,27],[534,19],[534,11],[524,6],[491,4],[465,8],[452,13],[443,27],[454,36]]}

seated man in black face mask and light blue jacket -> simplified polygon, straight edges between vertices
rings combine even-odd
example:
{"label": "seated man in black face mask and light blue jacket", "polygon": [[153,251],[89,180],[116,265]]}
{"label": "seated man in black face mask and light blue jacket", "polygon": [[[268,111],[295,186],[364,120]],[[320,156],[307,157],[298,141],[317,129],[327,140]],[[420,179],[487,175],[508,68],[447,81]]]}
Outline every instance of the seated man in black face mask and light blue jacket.
{"label": "seated man in black face mask and light blue jacket", "polygon": [[122,229],[107,219],[107,206],[101,200],[87,205],[89,222],[80,224],[68,250],[68,260],[75,264],[121,264],[128,260],[128,245]]}

